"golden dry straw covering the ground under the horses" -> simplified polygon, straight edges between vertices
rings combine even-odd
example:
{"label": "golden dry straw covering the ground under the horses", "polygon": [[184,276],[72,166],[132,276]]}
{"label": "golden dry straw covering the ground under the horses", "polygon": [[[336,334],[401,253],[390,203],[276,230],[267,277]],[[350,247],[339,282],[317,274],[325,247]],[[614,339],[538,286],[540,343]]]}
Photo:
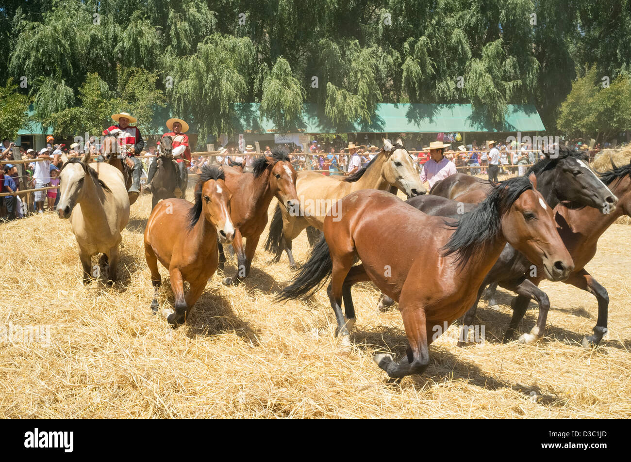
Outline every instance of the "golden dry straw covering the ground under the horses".
{"label": "golden dry straw covering the ground under the horses", "polygon": [[[601,347],[579,346],[594,326],[596,299],[545,282],[552,309],[543,342],[502,345],[510,316],[504,292],[499,309],[483,302],[478,310],[476,323],[486,326],[486,342],[457,347],[452,326],[430,347],[432,362],[423,376],[393,384],[372,356],[383,350],[403,354],[407,341],[398,311],[379,313],[374,287],[355,287],[358,321],[353,347],[344,349],[333,338],[334,316],[324,291],[307,301],[271,303],[291,275],[285,256],[272,264],[271,255],[259,249],[251,276],[239,287],[224,287],[215,275],[189,323],[177,330],[151,316],[153,289],[142,251],[150,200],[143,196],[131,207],[118,270],[122,280],[113,288],[102,281],[88,288],[81,284],[68,221],[44,214],[1,225],[0,326],[48,325],[51,344],[0,344],[0,417],[631,413],[627,226],[611,226],[588,266],[611,297],[610,332]],[[304,262],[304,233],[293,248],[297,261]],[[231,260],[227,272],[234,270]],[[161,303],[171,306],[165,282]],[[536,313],[528,311],[522,332],[534,325]]]}

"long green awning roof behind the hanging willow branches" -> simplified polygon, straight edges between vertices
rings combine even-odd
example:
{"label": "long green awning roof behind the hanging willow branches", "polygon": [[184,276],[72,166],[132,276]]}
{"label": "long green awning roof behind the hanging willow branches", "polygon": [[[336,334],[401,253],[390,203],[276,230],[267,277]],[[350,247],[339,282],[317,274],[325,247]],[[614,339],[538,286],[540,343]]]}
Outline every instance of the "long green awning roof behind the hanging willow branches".
{"label": "long green awning roof behind the hanging willow branches", "polygon": [[[239,133],[278,133],[270,120],[259,115],[258,103],[235,105],[233,120]],[[509,105],[504,124],[493,126],[473,112],[470,104],[380,103],[370,124],[350,122],[335,126],[315,103],[303,105],[303,133],[433,133],[433,132],[534,132],[545,130],[534,105]]]}

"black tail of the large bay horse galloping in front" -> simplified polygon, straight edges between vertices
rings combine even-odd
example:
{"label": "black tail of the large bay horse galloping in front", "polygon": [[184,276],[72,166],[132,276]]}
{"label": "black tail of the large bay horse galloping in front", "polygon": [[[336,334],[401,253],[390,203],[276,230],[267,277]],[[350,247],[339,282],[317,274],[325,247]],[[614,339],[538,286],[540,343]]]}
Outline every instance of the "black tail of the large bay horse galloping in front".
{"label": "black tail of the large bay horse galloping in front", "polygon": [[274,300],[286,301],[288,299],[310,296],[324,286],[331,272],[333,272],[333,260],[331,260],[331,253],[329,253],[329,245],[323,236],[311,251],[307,263],[291,280],[291,284],[285,287]]}

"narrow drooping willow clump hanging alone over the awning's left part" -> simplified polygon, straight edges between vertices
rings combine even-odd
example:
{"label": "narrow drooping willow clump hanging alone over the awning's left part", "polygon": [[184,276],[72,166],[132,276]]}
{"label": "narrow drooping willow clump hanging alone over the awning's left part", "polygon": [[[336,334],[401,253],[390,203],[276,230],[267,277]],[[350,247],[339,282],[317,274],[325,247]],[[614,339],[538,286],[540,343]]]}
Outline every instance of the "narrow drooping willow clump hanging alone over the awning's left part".
{"label": "narrow drooping willow clump hanging alone over the awning's left part", "polygon": [[261,115],[268,118],[276,129],[293,132],[302,128],[302,101],[305,91],[292,74],[286,59],[280,57],[262,84]]}

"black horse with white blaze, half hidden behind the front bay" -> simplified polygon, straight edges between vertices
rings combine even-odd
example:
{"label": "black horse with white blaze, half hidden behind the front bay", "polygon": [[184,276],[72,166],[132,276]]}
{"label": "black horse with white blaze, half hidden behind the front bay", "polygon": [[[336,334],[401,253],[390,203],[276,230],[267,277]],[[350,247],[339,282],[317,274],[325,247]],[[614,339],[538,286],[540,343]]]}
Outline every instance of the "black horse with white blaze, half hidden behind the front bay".
{"label": "black horse with white blaze, half hidden behind the front bay", "polygon": [[[559,204],[570,208],[594,207],[602,214],[609,214],[615,210],[618,198],[584,162],[584,154],[573,149],[564,149],[561,154],[563,154],[562,158],[546,158],[529,169],[529,173],[534,173],[540,182],[540,191],[546,204],[553,209]],[[468,326],[469,321],[473,321],[478,301],[485,287],[489,285],[497,287],[498,284],[527,299],[533,298],[539,303],[539,316],[533,332],[530,335],[522,335],[519,340],[523,343],[531,343],[540,338],[545,330],[550,303],[545,292],[538,289],[529,280],[528,275],[539,274],[542,279],[548,275],[545,274],[545,271],[543,274],[536,272],[536,265],[533,263],[521,255],[519,251],[511,246],[506,246],[497,263],[493,265],[484,278],[478,291],[478,298],[467,315],[464,316],[464,325]],[[548,277],[548,279],[550,278]],[[491,297],[489,306],[493,306],[493,304],[495,301]],[[508,333],[509,335],[504,337],[505,342],[512,338],[512,330],[509,330]]]}

